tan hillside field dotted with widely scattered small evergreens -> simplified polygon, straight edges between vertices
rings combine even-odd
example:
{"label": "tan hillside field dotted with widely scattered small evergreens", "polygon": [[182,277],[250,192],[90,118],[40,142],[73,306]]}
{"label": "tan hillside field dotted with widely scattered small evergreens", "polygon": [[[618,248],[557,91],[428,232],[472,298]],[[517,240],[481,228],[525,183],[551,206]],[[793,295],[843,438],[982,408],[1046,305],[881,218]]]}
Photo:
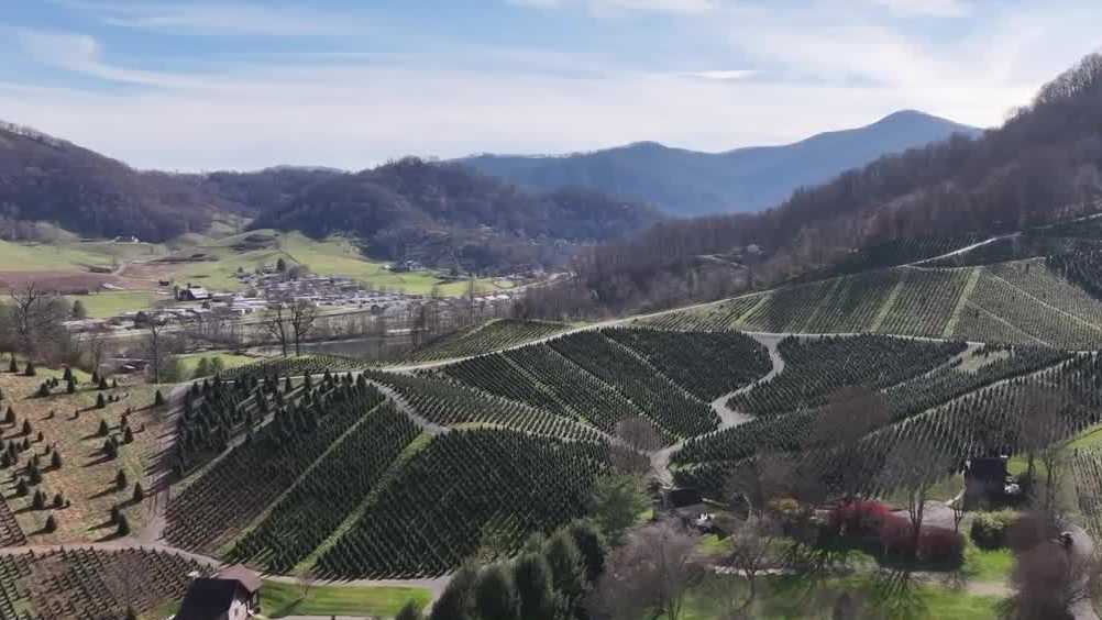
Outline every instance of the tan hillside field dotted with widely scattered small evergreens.
{"label": "tan hillside field dotted with widely scattered small evergreens", "polygon": [[[22,367],[22,365],[21,365]],[[65,383],[55,389],[54,395],[40,398],[36,395],[39,385],[51,376],[61,376],[56,370],[40,369],[36,377],[13,376],[8,370],[7,358],[0,363],[0,389],[3,390],[3,412],[10,405],[17,416],[14,425],[0,425],[0,433],[6,443],[17,439],[22,442],[22,425],[24,420],[31,422],[31,448],[23,452],[19,459],[19,471],[22,472],[31,455],[40,455],[43,470],[42,485],[39,486],[47,496],[47,504],[54,493],[61,491],[71,502],[68,508],[55,510],[33,510],[31,502],[34,488],[23,498],[15,497],[18,478],[9,469],[0,482],[0,491],[10,509],[15,513],[23,533],[30,544],[71,543],[109,540],[115,534],[115,526],[108,524],[112,505],[118,504],[131,526],[131,534],[137,535],[145,515],[143,507],[134,504],[132,499],[133,485],[143,481],[148,464],[156,447],[156,437],[161,424],[158,420],[163,411],[152,411],[153,389],[140,384],[137,379],[119,378],[119,388],[106,390],[102,393],[118,396],[119,401],[108,403],[106,409],[95,409],[97,394],[100,392],[87,382],[87,376],[78,374],[77,392],[65,393]],[[105,437],[97,436],[99,423],[107,421],[110,433],[120,442],[122,429],[120,416],[132,407],[129,424],[133,431],[133,443],[122,445],[117,459],[107,460],[101,454]],[[0,417],[2,420],[2,417]],[[145,426],[141,431],[142,425]],[[42,440],[37,434],[42,433]],[[47,446],[54,446],[62,456],[61,469],[50,468],[50,456],[45,455]],[[115,489],[115,478],[122,469],[127,474],[128,485],[121,491]],[[149,503],[149,501],[144,502]],[[43,526],[46,518],[53,514],[57,522],[57,531],[47,534]]]}

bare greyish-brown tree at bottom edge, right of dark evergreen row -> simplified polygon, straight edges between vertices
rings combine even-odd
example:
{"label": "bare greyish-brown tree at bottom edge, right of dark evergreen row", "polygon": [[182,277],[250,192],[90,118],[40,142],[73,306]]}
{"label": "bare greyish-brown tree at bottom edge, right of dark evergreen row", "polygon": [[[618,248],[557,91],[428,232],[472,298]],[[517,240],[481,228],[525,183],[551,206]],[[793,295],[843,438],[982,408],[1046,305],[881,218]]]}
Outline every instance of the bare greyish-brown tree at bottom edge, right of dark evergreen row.
{"label": "bare greyish-brown tree at bottom edge, right of dark evergreen row", "polygon": [[609,620],[679,620],[685,595],[704,576],[695,544],[693,534],[669,522],[637,530],[608,558],[587,601],[591,612]]}

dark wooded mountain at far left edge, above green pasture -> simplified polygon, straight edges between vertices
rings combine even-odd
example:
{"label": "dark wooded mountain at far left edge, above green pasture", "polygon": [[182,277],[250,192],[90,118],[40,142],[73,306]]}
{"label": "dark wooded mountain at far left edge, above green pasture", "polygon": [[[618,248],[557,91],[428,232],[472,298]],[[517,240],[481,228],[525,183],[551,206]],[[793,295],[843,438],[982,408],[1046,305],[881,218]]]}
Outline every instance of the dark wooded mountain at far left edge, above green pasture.
{"label": "dark wooded mountain at far left edge, above green pasture", "polygon": [[44,220],[94,237],[162,241],[203,230],[235,205],[188,175],[139,172],[47,135],[0,123],[0,232]]}

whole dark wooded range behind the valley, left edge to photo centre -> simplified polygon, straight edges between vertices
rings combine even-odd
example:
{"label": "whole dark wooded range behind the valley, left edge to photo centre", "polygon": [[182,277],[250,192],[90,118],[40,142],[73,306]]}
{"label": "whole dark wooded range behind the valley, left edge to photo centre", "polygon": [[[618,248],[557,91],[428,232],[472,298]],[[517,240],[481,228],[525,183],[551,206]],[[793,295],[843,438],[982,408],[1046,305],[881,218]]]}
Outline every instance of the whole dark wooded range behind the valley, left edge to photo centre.
{"label": "whole dark wooded range behind the valley, left edge to photo centre", "polygon": [[661,219],[588,189],[526,192],[460,165],[404,159],[358,173],[274,166],[168,174],[133,170],[48,134],[0,123],[0,238],[33,239],[46,221],[82,237],[165,241],[215,216],[313,237],[355,235],[372,257],[471,271],[552,265],[580,244]]}

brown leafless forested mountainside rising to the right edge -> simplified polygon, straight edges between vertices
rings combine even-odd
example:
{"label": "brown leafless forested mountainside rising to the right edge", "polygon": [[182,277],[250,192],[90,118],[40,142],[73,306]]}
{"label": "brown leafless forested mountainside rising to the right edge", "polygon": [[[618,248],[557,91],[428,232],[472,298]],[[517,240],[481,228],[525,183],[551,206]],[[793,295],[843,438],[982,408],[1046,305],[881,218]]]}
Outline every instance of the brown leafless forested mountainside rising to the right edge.
{"label": "brown leafless forested mountainside rising to the right edge", "polygon": [[[577,302],[577,313],[593,301],[598,313],[683,304],[730,293],[730,273],[712,278],[721,262],[752,287],[776,284],[828,273],[855,254],[900,264],[915,246],[1012,235],[1100,207],[1095,54],[1045,85],[1001,128],[882,156],[759,214],[668,220],[594,247],[576,258],[579,278],[560,293]],[[756,251],[745,251],[750,247]]]}

